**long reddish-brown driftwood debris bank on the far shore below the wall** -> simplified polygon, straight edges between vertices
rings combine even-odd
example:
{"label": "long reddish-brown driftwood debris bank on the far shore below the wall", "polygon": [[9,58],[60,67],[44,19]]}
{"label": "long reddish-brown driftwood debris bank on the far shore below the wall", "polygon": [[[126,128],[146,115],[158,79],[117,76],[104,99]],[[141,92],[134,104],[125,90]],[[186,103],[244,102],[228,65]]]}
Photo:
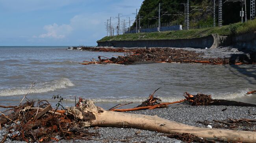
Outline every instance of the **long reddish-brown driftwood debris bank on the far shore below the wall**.
{"label": "long reddish-brown driftwood debris bank on the far shore below the wall", "polygon": [[[203,63],[212,65],[223,65],[223,64],[254,64],[254,63],[241,63],[241,62],[230,62],[228,58],[202,58],[204,53],[197,53],[195,51],[187,51],[184,49],[173,49],[173,48],[133,48],[133,49],[122,49],[122,48],[105,48],[93,47],[94,51],[111,51],[111,52],[124,52],[124,56],[117,56],[117,58],[107,58],[98,56],[98,60],[83,61],[82,65],[88,64],[104,64],[104,63],[115,63],[130,65],[136,62],[155,62],[155,63]],[[90,51],[90,50],[89,50]]]}

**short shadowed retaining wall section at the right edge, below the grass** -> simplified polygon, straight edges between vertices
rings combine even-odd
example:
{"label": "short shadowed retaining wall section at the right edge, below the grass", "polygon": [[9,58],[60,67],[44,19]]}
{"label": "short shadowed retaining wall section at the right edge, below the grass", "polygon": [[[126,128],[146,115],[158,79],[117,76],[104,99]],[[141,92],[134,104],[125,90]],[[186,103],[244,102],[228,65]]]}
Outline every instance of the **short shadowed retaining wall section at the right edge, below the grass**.
{"label": "short shadowed retaining wall section at the right edge, below the grass", "polygon": [[246,33],[232,37],[232,45],[256,51],[256,33]]}

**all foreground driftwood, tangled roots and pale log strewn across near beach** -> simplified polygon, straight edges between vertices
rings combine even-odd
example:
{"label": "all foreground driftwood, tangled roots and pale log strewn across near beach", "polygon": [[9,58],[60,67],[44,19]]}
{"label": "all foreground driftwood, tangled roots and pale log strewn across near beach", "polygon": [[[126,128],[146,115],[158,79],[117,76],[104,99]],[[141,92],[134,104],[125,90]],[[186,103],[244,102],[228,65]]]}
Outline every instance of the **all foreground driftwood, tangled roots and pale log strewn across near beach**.
{"label": "all foreground driftwood, tangled roots and pale log strewn across near beach", "polygon": [[[148,100],[143,101],[141,105],[133,109],[141,110],[143,107],[150,107],[144,108],[144,110],[166,108],[167,105],[173,104],[162,103],[160,98],[154,97],[156,91],[150,94]],[[206,106],[212,105],[213,102],[221,105],[223,101],[213,100],[210,95],[191,95],[187,92],[185,92],[184,97],[184,100],[176,101],[175,103],[186,101],[192,106]],[[0,125],[6,126],[8,130],[1,142],[4,142],[6,138],[26,142],[49,142],[59,141],[60,139],[99,140],[96,137],[100,136],[100,134],[89,132],[86,129],[88,127],[121,127],[151,130],[166,133],[164,136],[181,139],[186,143],[191,141],[200,143],[215,143],[215,141],[255,142],[254,137],[256,134],[253,131],[199,128],[176,123],[157,116],[122,113],[127,110],[117,110],[117,108],[124,105],[117,105],[109,110],[104,110],[101,107],[96,107],[93,101],[83,98],[79,98],[74,107],[63,107],[61,103],[63,98],[61,96],[57,95],[53,96],[53,98],[59,100],[56,104],[57,109],[52,108],[46,100],[41,100],[37,103],[35,101],[26,101],[17,106],[0,105],[1,108],[7,109],[5,112],[0,112],[2,114],[0,116]],[[234,102],[225,102],[226,105],[228,103]],[[237,106],[256,106],[247,103],[235,103]],[[61,107],[62,110],[58,110],[58,107]],[[8,111],[11,111],[11,114],[7,114]],[[225,121],[216,120],[215,122],[236,127],[241,125],[240,123],[243,123],[244,126],[251,126],[256,121],[255,119],[229,119]],[[252,138],[247,138],[247,136]]]}

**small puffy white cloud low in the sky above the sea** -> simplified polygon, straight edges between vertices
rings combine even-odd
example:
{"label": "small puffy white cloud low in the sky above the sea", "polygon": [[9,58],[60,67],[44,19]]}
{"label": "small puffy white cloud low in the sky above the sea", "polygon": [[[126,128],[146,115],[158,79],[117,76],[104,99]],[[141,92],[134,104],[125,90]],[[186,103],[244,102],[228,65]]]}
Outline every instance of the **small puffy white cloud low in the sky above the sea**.
{"label": "small puffy white cloud low in the sky above the sea", "polygon": [[[47,33],[41,34],[38,37],[39,38],[55,38],[55,39],[62,39],[69,34],[73,28],[70,25],[58,25],[54,23],[53,25],[45,25],[44,29],[47,31]],[[33,36],[35,38],[36,36]]]}

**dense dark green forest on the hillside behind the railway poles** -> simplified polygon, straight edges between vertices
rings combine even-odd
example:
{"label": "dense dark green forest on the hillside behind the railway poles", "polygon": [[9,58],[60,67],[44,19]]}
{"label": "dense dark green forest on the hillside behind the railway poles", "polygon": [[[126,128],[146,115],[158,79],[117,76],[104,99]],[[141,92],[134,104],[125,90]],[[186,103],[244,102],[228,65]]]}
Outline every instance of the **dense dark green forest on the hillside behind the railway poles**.
{"label": "dense dark green forest on the hillside behind the railway poles", "polygon": [[[216,1],[216,25],[218,25],[218,5],[219,0]],[[223,0],[224,2],[225,0]],[[184,25],[184,15],[173,15],[176,12],[184,12],[184,5],[187,0],[144,0],[139,10],[141,18],[141,26],[158,24],[158,20],[152,19],[153,16],[158,17],[158,7],[161,3],[161,12],[168,12],[161,16],[161,23],[175,22]],[[192,10],[189,8],[190,26],[197,25],[213,25],[213,0],[189,0],[189,6],[201,6]],[[206,9],[206,7],[210,7]],[[225,2],[223,4],[223,25],[241,21],[240,17],[241,2]],[[163,14],[163,13],[161,13]],[[151,18],[151,19],[150,19]],[[250,0],[247,0],[247,19],[250,18]],[[133,27],[135,23],[133,24]]]}

